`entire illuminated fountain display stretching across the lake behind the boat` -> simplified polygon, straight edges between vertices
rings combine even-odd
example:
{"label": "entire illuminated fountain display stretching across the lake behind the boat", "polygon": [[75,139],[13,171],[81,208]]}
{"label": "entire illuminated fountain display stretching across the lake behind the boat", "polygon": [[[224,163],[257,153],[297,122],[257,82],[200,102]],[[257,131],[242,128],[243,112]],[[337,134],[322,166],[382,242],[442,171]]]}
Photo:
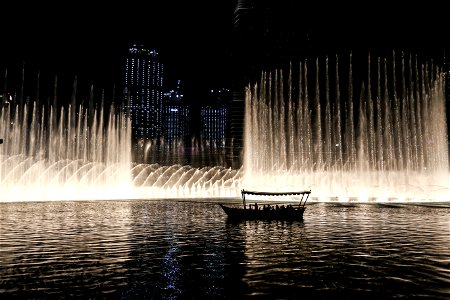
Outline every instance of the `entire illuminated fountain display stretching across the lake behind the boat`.
{"label": "entire illuminated fountain display stretching across the lake behind the boat", "polygon": [[0,201],[239,197],[242,188],[449,201],[442,71],[403,54],[365,66],[350,55],[262,73],[247,88],[238,170],[132,164],[129,120],[114,106],[4,106]]}

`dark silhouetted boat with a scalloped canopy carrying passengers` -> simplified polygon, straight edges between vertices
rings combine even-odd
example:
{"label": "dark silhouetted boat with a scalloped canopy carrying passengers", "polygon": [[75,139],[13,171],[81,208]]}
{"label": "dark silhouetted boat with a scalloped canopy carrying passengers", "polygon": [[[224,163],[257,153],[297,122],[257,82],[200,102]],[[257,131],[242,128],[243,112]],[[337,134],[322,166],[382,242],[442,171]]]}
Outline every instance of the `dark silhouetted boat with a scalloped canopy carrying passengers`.
{"label": "dark silhouetted boat with a scalloped canopy carrying passengers", "polygon": [[[233,220],[297,220],[303,221],[303,213],[305,212],[305,204],[311,194],[309,191],[299,191],[299,192],[262,192],[262,191],[247,191],[241,190],[242,195],[242,207],[241,206],[230,206],[220,203],[223,211],[227,214],[229,219]],[[258,202],[252,201],[247,205],[246,195],[253,196],[269,196],[277,197],[277,201],[269,202],[264,201]],[[279,201],[278,198],[285,196],[296,196],[298,203],[292,205]]]}

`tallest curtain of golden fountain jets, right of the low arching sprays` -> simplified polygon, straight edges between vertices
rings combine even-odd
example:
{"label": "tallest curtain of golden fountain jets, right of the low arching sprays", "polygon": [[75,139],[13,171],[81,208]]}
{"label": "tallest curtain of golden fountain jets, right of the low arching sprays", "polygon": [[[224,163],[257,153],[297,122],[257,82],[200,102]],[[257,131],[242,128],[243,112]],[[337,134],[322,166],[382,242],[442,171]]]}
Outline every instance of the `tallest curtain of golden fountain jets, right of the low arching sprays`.
{"label": "tallest curtain of golden fountain jets, right of the low arching sprays", "polygon": [[442,70],[403,53],[343,60],[304,60],[248,86],[243,185],[325,201],[448,201]]}

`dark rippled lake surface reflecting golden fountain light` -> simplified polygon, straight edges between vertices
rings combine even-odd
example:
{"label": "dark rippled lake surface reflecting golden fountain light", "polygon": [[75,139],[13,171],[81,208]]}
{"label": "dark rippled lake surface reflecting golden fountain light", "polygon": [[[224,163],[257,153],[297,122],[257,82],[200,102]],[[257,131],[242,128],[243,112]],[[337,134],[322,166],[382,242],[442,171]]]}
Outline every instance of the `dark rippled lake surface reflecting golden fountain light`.
{"label": "dark rippled lake surface reflecting golden fountain light", "polygon": [[0,297],[450,299],[450,204],[231,223],[220,201],[0,203]]}

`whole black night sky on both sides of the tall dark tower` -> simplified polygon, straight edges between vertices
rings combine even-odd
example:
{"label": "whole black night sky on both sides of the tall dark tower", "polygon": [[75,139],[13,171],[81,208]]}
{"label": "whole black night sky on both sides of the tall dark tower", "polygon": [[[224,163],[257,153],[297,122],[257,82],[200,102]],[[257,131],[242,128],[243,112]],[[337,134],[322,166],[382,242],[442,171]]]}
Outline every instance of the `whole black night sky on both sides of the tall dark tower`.
{"label": "whole black night sky on both sides of the tall dark tower", "polygon": [[[57,74],[61,85],[71,86],[77,75],[80,89],[91,82],[108,92],[120,80],[128,46],[138,42],[160,52],[169,85],[181,79],[191,93],[228,86],[234,2],[2,4],[0,70],[8,68],[12,80],[24,61],[28,76],[40,70],[41,78]],[[449,49],[448,16],[439,5],[276,3],[292,6],[289,26],[308,32],[317,49]]]}

